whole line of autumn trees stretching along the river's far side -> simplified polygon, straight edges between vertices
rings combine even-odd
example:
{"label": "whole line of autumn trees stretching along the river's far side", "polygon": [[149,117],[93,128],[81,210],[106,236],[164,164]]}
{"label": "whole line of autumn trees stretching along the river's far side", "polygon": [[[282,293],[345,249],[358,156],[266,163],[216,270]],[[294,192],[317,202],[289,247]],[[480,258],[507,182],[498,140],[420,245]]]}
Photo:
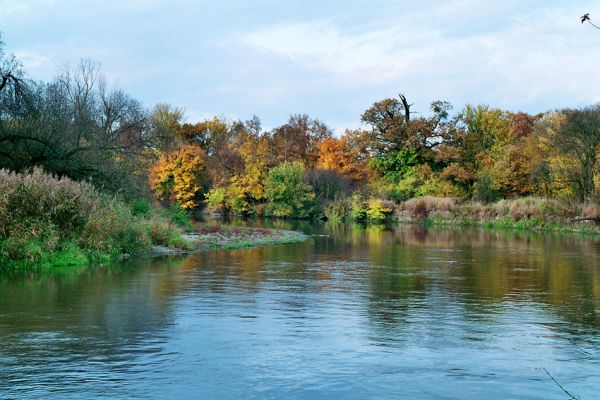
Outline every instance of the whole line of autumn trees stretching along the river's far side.
{"label": "whole line of autumn trees stretching along the river's far side", "polygon": [[269,131],[257,117],[188,123],[108,88],[91,62],[33,82],[0,46],[0,73],[0,168],[42,167],[129,199],[315,217],[352,198],[348,212],[363,218],[421,196],[598,201],[598,105],[530,115],[434,101],[422,114],[399,95],[335,137],[303,114]]}

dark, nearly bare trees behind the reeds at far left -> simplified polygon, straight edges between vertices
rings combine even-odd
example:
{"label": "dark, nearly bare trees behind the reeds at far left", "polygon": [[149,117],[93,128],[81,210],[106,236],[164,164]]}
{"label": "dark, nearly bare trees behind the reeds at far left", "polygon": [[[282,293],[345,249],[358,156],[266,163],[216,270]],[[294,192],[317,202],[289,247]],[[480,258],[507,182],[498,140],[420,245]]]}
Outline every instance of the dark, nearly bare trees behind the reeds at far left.
{"label": "dark, nearly bare trees behind the reeds at far left", "polygon": [[84,60],[50,83],[29,83],[16,100],[5,89],[0,102],[7,105],[0,112],[0,167],[41,166],[109,190],[143,175],[146,111],[122,90],[108,89],[95,63]]}

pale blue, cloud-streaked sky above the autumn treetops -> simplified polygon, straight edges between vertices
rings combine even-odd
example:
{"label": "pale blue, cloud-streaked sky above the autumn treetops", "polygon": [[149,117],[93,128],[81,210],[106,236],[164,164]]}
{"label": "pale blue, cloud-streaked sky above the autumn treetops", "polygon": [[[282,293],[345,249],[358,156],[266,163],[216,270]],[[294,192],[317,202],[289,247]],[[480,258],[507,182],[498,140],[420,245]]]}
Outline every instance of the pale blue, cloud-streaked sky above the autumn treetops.
{"label": "pale blue, cloud-streaked sky above the autumn treetops", "polygon": [[404,93],[541,112],[600,101],[600,1],[0,0],[31,78],[82,58],[148,107],[189,122],[307,113],[341,133]]}

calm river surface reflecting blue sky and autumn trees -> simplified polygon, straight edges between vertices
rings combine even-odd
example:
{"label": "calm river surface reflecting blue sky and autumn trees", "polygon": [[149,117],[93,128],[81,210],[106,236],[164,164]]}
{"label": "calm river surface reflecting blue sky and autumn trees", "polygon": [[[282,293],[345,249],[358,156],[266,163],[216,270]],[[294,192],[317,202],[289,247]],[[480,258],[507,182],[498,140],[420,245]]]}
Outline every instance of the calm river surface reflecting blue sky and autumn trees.
{"label": "calm river surface reflecting blue sky and autumn trees", "polygon": [[600,397],[598,238],[276,224],[315,236],[3,275],[0,398]]}

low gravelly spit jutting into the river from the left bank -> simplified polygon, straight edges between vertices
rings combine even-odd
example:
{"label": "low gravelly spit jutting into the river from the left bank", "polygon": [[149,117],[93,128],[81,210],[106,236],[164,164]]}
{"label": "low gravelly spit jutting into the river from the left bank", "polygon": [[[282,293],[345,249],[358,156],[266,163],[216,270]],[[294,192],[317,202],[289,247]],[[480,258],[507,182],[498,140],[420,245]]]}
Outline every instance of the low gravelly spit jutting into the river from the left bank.
{"label": "low gravelly spit jutting into the river from the left bank", "polygon": [[197,253],[209,249],[243,249],[303,242],[308,236],[295,231],[266,228],[200,226],[181,235],[185,246],[152,246],[151,256],[171,256]]}

